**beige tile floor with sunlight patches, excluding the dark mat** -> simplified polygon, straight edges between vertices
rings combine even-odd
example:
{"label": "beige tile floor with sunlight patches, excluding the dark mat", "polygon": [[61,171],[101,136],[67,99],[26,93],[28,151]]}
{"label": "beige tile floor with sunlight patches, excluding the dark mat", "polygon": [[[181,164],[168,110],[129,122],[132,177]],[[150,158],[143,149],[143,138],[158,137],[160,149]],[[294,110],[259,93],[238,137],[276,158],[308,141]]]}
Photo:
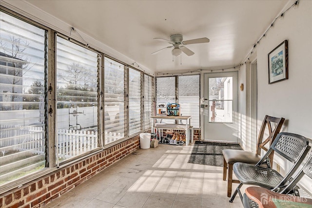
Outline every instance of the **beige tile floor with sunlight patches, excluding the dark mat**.
{"label": "beige tile floor with sunlight patches, excluding the dark mat", "polygon": [[192,148],[139,149],[44,208],[242,208],[239,196],[229,203],[222,167],[188,163]]}

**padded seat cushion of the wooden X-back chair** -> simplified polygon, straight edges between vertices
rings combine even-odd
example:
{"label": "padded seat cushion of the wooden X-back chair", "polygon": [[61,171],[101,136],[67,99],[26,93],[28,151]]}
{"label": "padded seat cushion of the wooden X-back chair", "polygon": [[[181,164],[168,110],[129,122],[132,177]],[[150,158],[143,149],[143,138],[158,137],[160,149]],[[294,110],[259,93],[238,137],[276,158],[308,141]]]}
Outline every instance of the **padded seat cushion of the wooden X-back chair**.
{"label": "padded seat cushion of the wooden X-back chair", "polygon": [[261,159],[260,155],[251,151],[222,150],[222,154],[227,164],[234,164],[236,162],[241,162],[241,163],[248,163],[248,164],[255,165]]}

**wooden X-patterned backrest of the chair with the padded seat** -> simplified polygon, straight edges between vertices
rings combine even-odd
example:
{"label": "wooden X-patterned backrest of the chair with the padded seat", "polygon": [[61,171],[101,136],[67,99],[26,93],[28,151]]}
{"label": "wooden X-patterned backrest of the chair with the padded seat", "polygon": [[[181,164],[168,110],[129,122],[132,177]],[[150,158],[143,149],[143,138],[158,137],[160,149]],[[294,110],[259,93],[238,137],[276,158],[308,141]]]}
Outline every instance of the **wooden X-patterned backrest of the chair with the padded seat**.
{"label": "wooden X-patterned backrest of the chair with the padded seat", "polygon": [[[261,155],[261,150],[268,151],[265,145],[267,143],[269,143],[270,146],[272,145],[274,139],[276,138],[276,135],[281,131],[284,121],[285,121],[285,118],[283,117],[276,118],[276,117],[272,117],[269,115],[266,115],[264,117],[264,120],[260,128],[259,136],[258,136],[258,141],[257,141],[256,153],[258,155]],[[274,125],[275,128],[272,128],[273,123],[275,123]],[[264,137],[266,128],[268,128],[269,136],[266,139],[264,139],[263,137]],[[269,156],[271,160],[271,166],[273,162],[273,155],[274,155],[274,152],[272,152],[272,154]]]}

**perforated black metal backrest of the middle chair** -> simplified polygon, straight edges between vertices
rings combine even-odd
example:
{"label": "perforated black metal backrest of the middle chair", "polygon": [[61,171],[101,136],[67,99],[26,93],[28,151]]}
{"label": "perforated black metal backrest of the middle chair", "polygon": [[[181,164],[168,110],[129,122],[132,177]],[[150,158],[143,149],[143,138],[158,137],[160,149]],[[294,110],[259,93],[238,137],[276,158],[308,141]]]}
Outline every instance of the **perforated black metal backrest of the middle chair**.
{"label": "perforated black metal backrest of the middle chair", "polygon": [[[266,160],[267,157],[274,151],[278,153],[280,156],[289,160],[293,163],[292,168],[286,174],[284,179],[280,182],[277,187],[280,187],[286,184],[287,181],[292,177],[294,172],[298,169],[305,156],[308,154],[310,150],[309,140],[301,135],[295,133],[288,132],[280,132],[277,134],[273,144],[270,149],[266,152],[266,154],[261,158],[257,165],[261,164]],[[276,187],[276,188],[277,188]]]}

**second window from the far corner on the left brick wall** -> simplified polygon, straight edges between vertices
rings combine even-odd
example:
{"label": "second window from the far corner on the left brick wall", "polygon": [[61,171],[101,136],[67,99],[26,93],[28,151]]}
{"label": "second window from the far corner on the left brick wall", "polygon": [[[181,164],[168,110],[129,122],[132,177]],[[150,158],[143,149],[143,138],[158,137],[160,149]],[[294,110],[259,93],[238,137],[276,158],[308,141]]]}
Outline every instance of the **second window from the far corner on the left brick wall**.
{"label": "second window from the far corner on the left brick wall", "polygon": [[141,72],[129,68],[129,135],[141,131]]}

